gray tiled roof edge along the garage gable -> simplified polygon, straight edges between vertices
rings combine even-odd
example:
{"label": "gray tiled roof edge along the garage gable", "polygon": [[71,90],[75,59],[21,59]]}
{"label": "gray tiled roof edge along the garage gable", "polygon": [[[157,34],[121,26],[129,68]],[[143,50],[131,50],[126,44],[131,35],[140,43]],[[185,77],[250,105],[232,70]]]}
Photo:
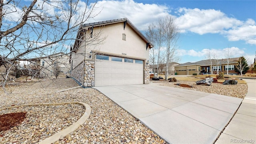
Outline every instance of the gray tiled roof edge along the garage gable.
{"label": "gray tiled roof edge along the garage gable", "polygon": [[88,24],[82,24],[80,27],[92,27],[92,26],[101,26],[101,25],[107,25],[107,24],[114,24],[118,22],[127,22],[133,30],[135,30],[146,42],[150,43],[150,45],[153,47],[153,44],[138,30],[128,18],[119,18],[119,19],[114,19],[114,20],[106,20],[106,21],[101,21],[101,22],[92,22]]}

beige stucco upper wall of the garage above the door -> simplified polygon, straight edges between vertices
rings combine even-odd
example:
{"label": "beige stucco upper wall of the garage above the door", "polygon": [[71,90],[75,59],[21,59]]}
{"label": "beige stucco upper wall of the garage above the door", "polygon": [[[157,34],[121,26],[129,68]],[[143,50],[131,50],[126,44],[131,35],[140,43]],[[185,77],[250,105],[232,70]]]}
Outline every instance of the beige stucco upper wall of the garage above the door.
{"label": "beige stucco upper wall of the garage above the door", "polygon": [[[86,47],[84,46],[85,43],[81,42],[76,54],[72,54],[73,67],[84,59],[84,48],[86,48],[86,59],[88,59],[91,50],[116,56],[138,58],[144,60],[144,63],[149,59],[149,48],[146,50],[146,42],[128,24],[124,30],[124,22],[94,27],[92,38],[90,38],[89,31],[86,34]],[[126,40],[122,40],[123,34],[126,34]]]}

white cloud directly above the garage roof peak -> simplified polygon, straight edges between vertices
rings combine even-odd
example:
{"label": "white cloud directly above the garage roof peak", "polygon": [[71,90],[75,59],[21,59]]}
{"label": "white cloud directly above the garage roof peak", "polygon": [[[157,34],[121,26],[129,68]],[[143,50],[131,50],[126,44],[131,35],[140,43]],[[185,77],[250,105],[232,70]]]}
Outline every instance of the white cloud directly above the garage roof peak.
{"label": "white cloud directly above the garage roof peak", "polygon": [[98,14],[100,10],[101,12],[89,22],[128,18],[140,30],[147,29],[150,23],[170,12],[164,5],[143,4],[133,0],[102,0],[98,1],[95,7],[94,14]]}

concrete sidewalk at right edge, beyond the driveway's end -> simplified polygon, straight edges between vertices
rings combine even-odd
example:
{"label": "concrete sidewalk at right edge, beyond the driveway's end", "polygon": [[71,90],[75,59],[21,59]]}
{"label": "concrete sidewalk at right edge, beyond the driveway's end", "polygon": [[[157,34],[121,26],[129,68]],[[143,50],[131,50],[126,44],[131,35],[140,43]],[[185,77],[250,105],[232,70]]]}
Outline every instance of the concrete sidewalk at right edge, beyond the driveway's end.
{"label": "concrete sidewalk at right edge, beyond the driveway's end", "polygon": [[256,80],[244,79],[248,92],[216,144],[256,144]]}

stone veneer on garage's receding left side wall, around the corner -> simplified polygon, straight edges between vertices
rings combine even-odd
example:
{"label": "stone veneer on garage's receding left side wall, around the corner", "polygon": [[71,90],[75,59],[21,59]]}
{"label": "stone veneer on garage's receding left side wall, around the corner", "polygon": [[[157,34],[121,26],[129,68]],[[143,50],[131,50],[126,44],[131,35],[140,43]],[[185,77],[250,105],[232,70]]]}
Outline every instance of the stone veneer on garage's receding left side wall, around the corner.
{"label": "stone veneer on garage's receding left side wall, around the corner", "polygon": [[76,66],[72,71],[71,71],[71,77],[76,79],[80,84],[83,84],[83,68],[84,68],[84,61],[80,62],[78,66]]}

